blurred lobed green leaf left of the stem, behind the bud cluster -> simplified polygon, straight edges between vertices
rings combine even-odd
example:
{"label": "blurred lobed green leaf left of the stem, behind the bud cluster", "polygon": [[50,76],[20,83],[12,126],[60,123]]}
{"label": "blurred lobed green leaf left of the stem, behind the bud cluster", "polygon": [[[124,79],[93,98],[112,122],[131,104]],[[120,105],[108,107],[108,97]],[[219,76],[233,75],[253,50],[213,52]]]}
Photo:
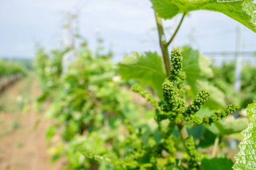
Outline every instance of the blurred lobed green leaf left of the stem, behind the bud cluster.
{"label": "blurred lobed green leaf left of the stem, behind the bud cluster", "polygon": [[134,52],[119,63],[119,73],[125,80],[137,80],[150,85],[162,97],[162,83],[166,78],[162,58],[156,52]]}

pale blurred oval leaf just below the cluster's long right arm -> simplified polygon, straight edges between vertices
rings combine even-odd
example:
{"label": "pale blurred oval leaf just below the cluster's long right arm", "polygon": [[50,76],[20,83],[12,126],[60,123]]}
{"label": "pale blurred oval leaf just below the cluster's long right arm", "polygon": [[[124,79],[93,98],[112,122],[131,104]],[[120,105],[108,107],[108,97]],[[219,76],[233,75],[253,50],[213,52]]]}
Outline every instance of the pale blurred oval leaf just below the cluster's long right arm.
{"label": "pale blurred oval leaf just below the cluster's long right arm", "polygon": [[248,125],[247,118],[237,118],[233,116],[224,118],[212,124],[208,129],[216,135],[234,134],[245,130]]}

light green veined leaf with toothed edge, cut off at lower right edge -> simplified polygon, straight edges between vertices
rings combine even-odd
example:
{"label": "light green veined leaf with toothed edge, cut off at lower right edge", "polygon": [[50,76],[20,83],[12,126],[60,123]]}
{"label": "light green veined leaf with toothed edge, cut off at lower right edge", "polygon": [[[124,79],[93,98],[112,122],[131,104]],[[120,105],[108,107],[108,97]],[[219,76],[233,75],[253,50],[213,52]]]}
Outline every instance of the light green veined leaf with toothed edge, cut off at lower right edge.
{"label": "light green veined leaf with toothed edge, cut off at lower right edge", "polygon": [[238,145],[241,151],[234,157],[236,162],[233,169],[256,169],[256,101],[247,107],[247,114],[251,122],[247,129],[243,130],[243,141]]}

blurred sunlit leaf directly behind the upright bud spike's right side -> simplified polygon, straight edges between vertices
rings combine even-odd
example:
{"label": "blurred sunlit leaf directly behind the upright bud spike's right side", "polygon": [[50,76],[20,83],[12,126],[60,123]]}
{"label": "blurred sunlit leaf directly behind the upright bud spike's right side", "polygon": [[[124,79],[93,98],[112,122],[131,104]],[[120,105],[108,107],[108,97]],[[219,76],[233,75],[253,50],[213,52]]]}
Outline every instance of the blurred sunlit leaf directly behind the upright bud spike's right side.
{"label": "blurred sunlit leaf directly behind the upright bud spike's right side", "polygon": [[205,78],[214,76],[210,67],[211,60],[205,58],[199,50],[193,50],[189,47],[184,47],[182,54],[183,70],[187,75],[186,81],[191,87],[189,96],[193,98],[201,89],[208,89],[210,98],[205,103],[205,106],[212,110],[223,108],[226,105],[224,93],[205,80]]}

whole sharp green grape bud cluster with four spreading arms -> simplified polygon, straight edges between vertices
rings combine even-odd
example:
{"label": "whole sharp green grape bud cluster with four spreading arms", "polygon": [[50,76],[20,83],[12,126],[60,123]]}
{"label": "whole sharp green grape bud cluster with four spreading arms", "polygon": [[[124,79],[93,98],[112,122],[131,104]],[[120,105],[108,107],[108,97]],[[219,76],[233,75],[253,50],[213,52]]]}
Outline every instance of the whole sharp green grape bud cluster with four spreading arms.
{"label": "whole sharp green grape bud cluster with four spreading arms", "polygon": [[162,83],[162,93],[164,99],[156,105],[156,99],[149,95],[138,85],[133,87],[133,91],[145,97],[156,108],[155,119],[157,122],[162,120],[170,120],[172,122],[189,122],[192,124],[212,124],[226,116],[235,112],[238,106],[235,104],[228,105],[224,110],[219,110],[210,116],[197,116],[197,112],[201,109],[204,103],[209,99],[210,92],[207,89],[199,91],[197,96],[191,103],[186,106],[185,95],[185,72],[183,71],[183,56],[181,50],[174,48],[170,58],[170,77]]}

